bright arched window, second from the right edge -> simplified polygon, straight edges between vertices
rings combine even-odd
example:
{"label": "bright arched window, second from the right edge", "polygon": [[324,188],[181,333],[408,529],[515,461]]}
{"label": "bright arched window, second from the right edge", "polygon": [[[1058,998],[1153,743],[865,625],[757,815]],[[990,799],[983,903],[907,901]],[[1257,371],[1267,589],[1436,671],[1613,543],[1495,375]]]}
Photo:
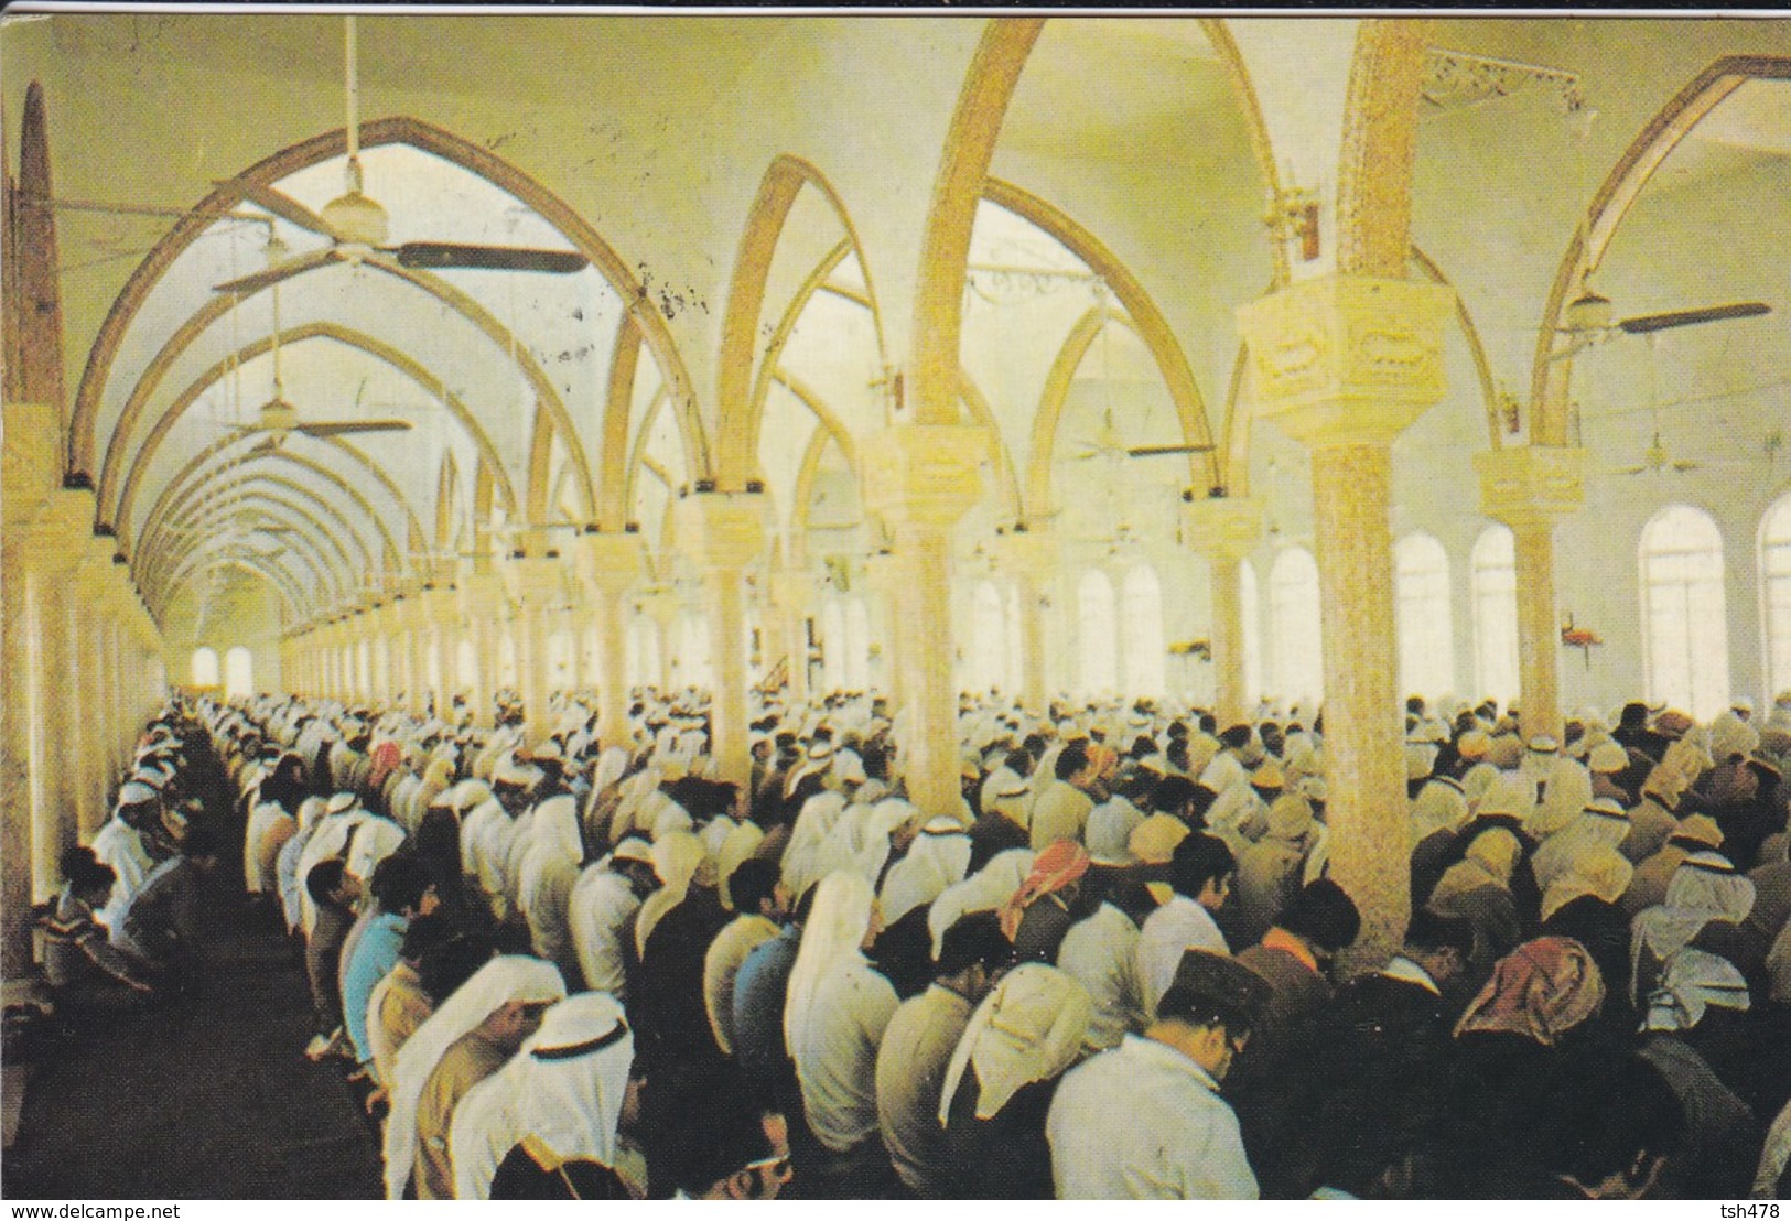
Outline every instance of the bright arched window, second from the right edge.
{"label": "bright arched window, second from the right edge", "polygon": [[1669,505],[1642,528],[1641,569],[1648,698],[1709,720],[1728,707],[1723,532]]}

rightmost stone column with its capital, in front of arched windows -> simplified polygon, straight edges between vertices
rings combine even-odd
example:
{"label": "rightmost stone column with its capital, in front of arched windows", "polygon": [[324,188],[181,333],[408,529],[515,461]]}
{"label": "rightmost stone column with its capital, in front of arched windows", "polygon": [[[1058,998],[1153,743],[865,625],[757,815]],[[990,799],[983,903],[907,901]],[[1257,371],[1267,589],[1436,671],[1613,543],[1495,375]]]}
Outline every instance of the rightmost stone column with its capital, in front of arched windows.
{"label": "rightmost stone column with its capital, in front of arched windows", "polygon": [[1513,446],[1474,455],[1481,512],[1512,528],[1517,559],[1517,682],[1524,738],[1562,734],[1555,525],[1585,503],[1585,451]]}

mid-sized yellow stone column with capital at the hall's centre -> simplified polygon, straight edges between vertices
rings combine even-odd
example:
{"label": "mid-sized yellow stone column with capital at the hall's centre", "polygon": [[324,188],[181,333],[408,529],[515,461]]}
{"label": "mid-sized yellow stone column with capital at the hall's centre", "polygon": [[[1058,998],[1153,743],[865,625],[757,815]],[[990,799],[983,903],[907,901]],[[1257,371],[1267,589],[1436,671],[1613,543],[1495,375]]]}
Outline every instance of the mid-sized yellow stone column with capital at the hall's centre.
{"label": "mid-sized yellow stone column with capital at the hall's centre", "polygon": [[903,779],[928,816],[956,815],[958,693],[951,643],[951,530],[981,498],[990,435],[960,424],[885,428],[860,449],[865,507],[896,535],[894,603],[908,723]]}

